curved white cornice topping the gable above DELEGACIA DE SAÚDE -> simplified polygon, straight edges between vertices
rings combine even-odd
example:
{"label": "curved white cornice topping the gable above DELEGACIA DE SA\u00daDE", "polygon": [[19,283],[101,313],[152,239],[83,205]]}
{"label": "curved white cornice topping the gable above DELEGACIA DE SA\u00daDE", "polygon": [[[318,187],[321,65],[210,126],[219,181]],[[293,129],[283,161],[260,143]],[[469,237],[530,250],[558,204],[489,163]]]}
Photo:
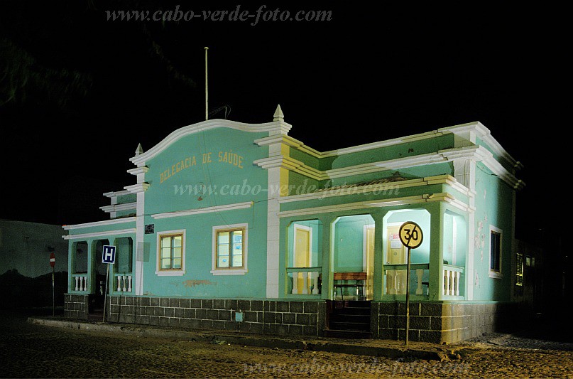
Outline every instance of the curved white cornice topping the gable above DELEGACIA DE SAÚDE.
{"label": "curved white cornice topping the gable above DELEGACIA DE SA\u00daDE", "polygon": [[132,161],[136,166],[141,166],[145,164],[146,161],[152,159],[161,151],[165,150],[170,144],[173,144],[173,142],[178,141],[178,139],[185,137],[187,134],[194,134],[219,127],[241,130],[242,132],[269,132],[270,134],[287,134],[291,128],[291,125],[282,120],[266,122],[264,124],[245,124],[243,122],[229,121],[228,119],[209,119],[175,130],[167,137],[165,137],[163,141],[159,142],[145,153],[133,156],[129,160]]}

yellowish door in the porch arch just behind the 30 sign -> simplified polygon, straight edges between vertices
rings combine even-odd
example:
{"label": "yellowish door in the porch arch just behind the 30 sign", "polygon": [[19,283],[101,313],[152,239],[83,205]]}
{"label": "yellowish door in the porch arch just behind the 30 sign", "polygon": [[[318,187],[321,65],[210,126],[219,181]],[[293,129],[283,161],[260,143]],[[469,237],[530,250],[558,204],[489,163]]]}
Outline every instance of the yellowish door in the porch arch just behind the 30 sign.
{"label": "yellowish door in the porch arch just behind the 30 sign", "polygon": [[[400,225],[388,225],[388,245],[386,246],[386,265],[405,265],[406,252],[400,241]],[[387,294],[406,293],[406,270],[388,269],[386,275]]]}

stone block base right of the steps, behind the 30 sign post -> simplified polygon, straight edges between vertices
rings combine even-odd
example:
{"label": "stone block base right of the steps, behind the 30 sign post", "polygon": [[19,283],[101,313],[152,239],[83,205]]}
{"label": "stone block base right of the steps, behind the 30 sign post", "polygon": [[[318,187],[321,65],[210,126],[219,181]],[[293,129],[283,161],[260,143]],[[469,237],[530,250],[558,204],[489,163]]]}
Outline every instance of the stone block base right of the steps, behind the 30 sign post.
{"label": "stone block base right of the steps, behind the 30 sign post", "polygon": [[[512,304],[412,302],[410,341],[453,343],[508,328]],[[405,302],[372,302],[373,338],[405,340]],[[503,322],[502,322],[503,321]]]}

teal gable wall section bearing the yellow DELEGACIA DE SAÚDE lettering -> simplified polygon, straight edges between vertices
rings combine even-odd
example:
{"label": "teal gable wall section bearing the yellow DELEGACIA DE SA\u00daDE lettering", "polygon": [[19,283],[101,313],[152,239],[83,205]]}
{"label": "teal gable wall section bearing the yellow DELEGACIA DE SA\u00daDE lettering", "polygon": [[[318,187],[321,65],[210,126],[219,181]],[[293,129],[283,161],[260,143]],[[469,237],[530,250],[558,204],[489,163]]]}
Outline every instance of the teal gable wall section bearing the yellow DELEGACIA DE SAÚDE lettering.
{"label": "teal gable wall section bearing the yellow DELEGACIA DE SA\u00daDE lettering", "polygon": [[146,214],[266,200],[267,171],[253,165],[268,156],[266,146],[253,143],[261,137],[217,128],[171,144],[146,162]]}

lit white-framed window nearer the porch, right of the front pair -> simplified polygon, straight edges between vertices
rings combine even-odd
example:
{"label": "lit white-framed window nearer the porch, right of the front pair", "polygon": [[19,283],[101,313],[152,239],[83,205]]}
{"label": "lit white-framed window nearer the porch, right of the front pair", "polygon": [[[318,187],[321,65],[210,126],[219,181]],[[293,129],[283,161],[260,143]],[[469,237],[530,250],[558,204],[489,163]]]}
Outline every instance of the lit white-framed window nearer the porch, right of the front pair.
{"label": "lit white-framed window nearer the porch, right of the front pair", "polygon": [[215,275],[245,274],[247,224],[213,227],[213,269]]}

